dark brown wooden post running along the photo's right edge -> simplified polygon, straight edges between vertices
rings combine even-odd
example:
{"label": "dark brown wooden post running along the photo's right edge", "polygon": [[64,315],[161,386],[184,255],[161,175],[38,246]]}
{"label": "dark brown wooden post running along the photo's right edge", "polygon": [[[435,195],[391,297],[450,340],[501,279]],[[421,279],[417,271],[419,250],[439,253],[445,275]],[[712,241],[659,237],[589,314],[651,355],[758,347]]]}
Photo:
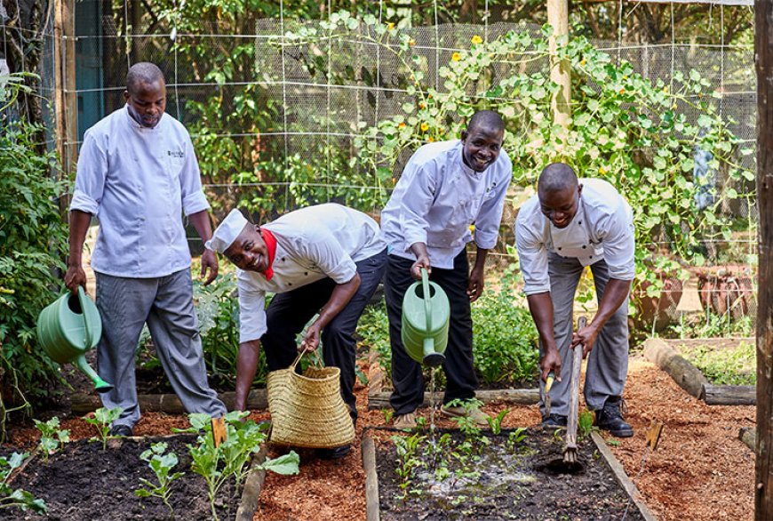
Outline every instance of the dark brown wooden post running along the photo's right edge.
{"label": "dark brown wooden post running along the photo's right edge", "polygon": [[[757,69],[757,208],[760,214],[757,296],[757,443],[754,519],[773,519],[773,0],[754,3]],[[768,284],[770,283],[770,284]]]}

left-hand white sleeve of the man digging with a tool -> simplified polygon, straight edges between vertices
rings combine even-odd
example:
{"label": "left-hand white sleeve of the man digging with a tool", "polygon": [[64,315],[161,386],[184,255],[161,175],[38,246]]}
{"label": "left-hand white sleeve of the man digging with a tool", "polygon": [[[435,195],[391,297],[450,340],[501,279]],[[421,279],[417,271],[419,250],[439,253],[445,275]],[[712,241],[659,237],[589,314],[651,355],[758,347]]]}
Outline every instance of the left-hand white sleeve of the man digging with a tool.
{"label": "left-hand white sleeve of the man digging with a tool", "polygon": [[518,212],[515,220],[515,248],[521,264],[523,293],[547,293],[550,291],[550,275],[545,240],[538,234],[537,223],[531,222],[523,213]]}

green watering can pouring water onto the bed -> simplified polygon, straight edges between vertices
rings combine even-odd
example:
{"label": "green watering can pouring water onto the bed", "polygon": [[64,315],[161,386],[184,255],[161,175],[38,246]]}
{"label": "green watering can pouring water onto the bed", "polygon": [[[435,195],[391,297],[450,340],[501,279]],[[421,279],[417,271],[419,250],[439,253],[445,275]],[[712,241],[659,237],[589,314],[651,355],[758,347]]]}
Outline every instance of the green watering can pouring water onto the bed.
{"label": "green watering can pouring water onto the bed", "polygon": [[448,345],[450,304],[442,287],[429,281],[421,269],[421,282],[415,282],[402,299],[402,345],[419,364],[437,367],[445,361]]}

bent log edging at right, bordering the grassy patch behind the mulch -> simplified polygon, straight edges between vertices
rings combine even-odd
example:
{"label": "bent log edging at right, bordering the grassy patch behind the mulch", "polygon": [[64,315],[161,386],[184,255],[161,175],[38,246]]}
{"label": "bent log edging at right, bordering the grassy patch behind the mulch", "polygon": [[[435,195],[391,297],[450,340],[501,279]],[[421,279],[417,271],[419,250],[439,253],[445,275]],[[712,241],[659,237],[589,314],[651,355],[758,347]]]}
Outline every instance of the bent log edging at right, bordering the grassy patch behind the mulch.
{"label": "bent log edging at right, bordering the grassy patch behind the mulch", "polygon": [[757,389],[751,385],[713,385],[689,360],[661,339],[644,342],[644,356],[668,373],[693,397],[706,405],[756,405]]}

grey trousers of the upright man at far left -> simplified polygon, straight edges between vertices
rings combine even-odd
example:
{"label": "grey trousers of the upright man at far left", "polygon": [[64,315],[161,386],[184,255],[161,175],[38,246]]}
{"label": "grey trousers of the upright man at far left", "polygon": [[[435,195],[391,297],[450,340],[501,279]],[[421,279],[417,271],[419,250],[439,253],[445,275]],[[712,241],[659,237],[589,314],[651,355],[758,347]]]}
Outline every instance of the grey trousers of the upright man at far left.
{"label": "grey trousers of the upright man at far left", "polygon": [[139,420],[134,360],[146,322],[163,371],[185,410],[225,414],[226,406],[207,383],[190,269],[158,278],[100,273],[96,277],[97,308],[102,317],[97,365],[100,377],[114,385],[101,395],[102,405],[124,409],[114,425],[133,427]]}

